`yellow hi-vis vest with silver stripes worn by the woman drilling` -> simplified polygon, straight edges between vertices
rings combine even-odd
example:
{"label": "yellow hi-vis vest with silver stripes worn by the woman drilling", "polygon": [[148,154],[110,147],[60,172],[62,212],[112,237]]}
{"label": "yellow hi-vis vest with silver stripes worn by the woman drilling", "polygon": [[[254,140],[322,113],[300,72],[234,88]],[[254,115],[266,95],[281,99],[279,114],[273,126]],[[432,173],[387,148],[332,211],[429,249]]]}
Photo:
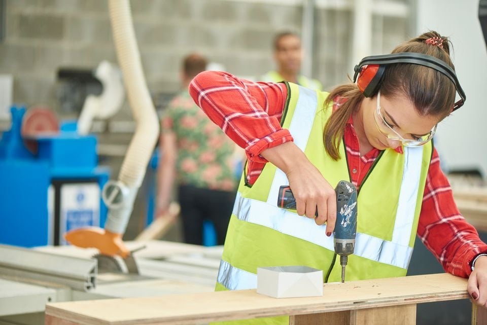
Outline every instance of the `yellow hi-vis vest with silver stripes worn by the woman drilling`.
{"label": "yellow hi-vis vest with silver stripes worn by the woman drilling", "polygon": [[[324,106],[328,94],[287,85],[283,127],[333,187],[341,179],[350,180],[343,141],[338,161],[328,156],[323,145],[323,130],[332,113],[332,104]],[[403,154],[387,149],[377,157],[358,194],[357,237],[346,267],[347,281],[406,275],[432,150],[429,142],[405,147]],[[305,265],[327,273],[334,254],[333,236],[327,237],[325,226],[315,220],[277,207],[279,187],[288,184],[284,172],[271,163],[252,187],[242,177],[216,290],[256,288],[258,267]],[[338,260],[329,282],[341,280]]]}

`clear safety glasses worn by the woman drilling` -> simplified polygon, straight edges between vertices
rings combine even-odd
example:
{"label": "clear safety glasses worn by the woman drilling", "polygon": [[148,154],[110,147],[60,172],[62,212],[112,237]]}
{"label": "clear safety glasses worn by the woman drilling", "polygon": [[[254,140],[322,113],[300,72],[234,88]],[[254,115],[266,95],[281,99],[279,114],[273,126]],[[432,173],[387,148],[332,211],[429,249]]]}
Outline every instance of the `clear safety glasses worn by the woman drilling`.
{"label": "clear safety glasses worn by the woman drilling", "polygon": [[436,132],[436,127],[438,126],[438,124],[436,124],[428,134],[423,136],[414,136],[412,134],[409,134],[407,137],[403,137],[396,130],[394,130],[394,127],[397,126],[386,121],[382,111],[382,107],[380,107],[379,90],[377,92],[377,109],[374,111],[375,126],[377,127],[377,130],[382,133],[382,135],[391,140],[401,141],[402,145],[405,147],[421,147],[425,145],[429,140],[433,138],[433,135]]}

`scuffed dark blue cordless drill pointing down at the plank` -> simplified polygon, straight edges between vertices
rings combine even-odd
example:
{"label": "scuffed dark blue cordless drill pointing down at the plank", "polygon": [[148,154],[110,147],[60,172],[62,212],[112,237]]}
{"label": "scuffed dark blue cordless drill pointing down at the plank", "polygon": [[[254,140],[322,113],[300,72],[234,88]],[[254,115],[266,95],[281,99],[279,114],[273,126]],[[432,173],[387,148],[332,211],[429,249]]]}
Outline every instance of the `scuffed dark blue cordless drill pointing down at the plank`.
{"label": "scuffed dark blue cordless drill pointing down at the plank", "polygon": [[[357,188],[346,180],[340,180],[335,188],[336,222],[333,231],[335,253],[340,256],[341,282],[345,282],[345,266],[355,248],[357,234]],[[296,200],[289,186],[281,186],[277,206],[296,209]],[[316,212],[318,216],[318,211]]]}

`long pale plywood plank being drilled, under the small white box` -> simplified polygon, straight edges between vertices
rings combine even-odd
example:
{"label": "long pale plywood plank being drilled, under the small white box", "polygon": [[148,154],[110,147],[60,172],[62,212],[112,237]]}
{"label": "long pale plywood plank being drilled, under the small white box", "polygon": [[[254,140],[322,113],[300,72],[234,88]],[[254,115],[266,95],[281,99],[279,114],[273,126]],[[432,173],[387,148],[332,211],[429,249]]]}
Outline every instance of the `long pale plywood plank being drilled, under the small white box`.
{"label": "long pale plywood plank being drilled, under the small white box", "polygon": [[326,283],[322,297],[275,299],[255,290],[48,304],[46,314],[83,325],[200,324],[467,299],[450,274]]}

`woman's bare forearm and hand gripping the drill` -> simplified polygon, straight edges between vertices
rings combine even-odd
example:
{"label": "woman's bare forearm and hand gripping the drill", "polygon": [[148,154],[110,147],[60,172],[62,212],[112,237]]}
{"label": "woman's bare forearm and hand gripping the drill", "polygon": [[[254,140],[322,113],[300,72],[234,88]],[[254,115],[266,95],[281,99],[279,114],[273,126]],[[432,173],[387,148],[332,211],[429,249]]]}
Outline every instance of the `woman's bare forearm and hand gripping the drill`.
{"label": "woman's bare forearm and hand gripping the drill", "polygon": [[296,212],[307,218],[315,218],[318,208],[315,222],[317,225],[326,223],[326,235],[330,236],[336,220],[335,190],[318,168],[311,164],[294,142],[266,149],[261,156],[286,173],[296,199]]}

